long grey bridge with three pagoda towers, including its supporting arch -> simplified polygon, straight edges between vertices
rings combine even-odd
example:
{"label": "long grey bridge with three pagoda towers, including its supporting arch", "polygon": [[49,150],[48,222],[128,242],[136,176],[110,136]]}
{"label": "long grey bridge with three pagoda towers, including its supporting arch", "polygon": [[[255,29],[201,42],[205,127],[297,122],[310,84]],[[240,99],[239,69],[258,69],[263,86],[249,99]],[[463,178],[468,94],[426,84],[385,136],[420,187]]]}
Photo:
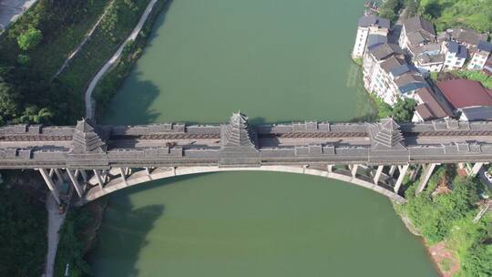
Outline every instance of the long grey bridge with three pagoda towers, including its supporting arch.
{"label": "long grey bridge with three pagoda towers, including its supporting arch", "polygon": [[99,126],[81,120],[76,127],[0,128],[0,169],[38,169],[58,202],[57,186],[65,180],[87,202],[149,180],[227,170],[319,175],[405,202],[398,192],[411,164],[425,165],[422,191],[437,164],[473,162],[476,174],[490,160],[492,122],[398,125],[386,118],[250,126],[234,113],[222,125]]}

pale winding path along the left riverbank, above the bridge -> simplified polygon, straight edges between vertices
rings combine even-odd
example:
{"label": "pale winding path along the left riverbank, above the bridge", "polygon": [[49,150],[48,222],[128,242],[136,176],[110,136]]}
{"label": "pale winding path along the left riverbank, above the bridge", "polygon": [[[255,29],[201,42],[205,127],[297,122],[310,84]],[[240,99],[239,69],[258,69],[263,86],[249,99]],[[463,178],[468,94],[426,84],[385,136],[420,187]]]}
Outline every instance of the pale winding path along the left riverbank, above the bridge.
{"label": "pale winding path along the left riverbank, above the bridge", "polygon": [[108,62],[101,69],[99,69],[96,76],[90,82],[89,86],[87,87],[86,96],[85,96],[85,98],[86,98],[86,118],[91,118],[91,119],[94,118],[94,110],[95,110],[96,103],[94,103],[94,101],[92,99],[92,92],[94,91],[94,88],[96,88],[97,83],[99,82],[101,77],[103,77],[108,72],[108,70],[110,70],[112,67],[114,67],[118,64],[118,59],[119,59],[119,56],[121,56],[123,49],[125,48],[125,46],[128,45],[128,43],[130,41],[134,41],[137,38],[138,33],[140,33],[140,30],[142,29],[145,22],[147,21],[147,18],[149,17],[150,12],[152,12],[154,5],[156,5],[156,3],[158,1],[159,0],[151,0],[149,2],[149,5],[147,5],[147,8],[145,9],[144,13],[140,16],[140,20],[138,21],[137,26],[135,26],[135,28],[133,29],[131,34],[121,44],[121,46],[119,46],[116,53],[113,56],[111,56],[111,58],[109,58]]}

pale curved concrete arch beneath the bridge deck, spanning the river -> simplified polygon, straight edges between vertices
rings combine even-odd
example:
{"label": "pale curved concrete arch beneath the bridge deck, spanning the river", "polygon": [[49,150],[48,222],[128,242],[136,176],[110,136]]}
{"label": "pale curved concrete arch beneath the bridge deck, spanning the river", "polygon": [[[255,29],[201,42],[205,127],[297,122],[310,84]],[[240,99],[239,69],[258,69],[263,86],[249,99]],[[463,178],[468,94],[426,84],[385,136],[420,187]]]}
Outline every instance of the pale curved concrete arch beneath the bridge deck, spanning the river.
{"label": "pale curved concrete arch beneath the bridge deck, spanning the river", "polygon": [[[118,170],[117,172],[123,172],[124,170]],[[296,166],[261,166],[261,167],[227,167],[222,168],[218,166],[195,166],[195,167],[177,167],[177,168],[158,168],[149,170],[138,170],[136,172],[131,172],[123,178],[121,174],[120,177],[109,180],[105,184],[103,189],[97,186],[96,178],[89,180],[89,184],[94,185],[94,187],[87,190],[86,194],[79,201],[78,205],[84,205],[85,203],[97,200],[111,192],[117,190],[123,190],[128,187],[132,187],[138,184],[146,183],[151,180],[161,180],[172,178],[175,176],[184,176],[200,173],[210,173],[210,172],[226,172],[226,171],[272,171],[272,172],[287,172],[287,173],[297,173],[297,174],[307,174],[313,176],[319,176],[324,178],[329,178],[333,180],[342,180],[344,182],[352,183],[354,185],[363,187],[368,190],[374,190],[377,193],[383,194],[384,196],[395,200],[397,203],[405,203],[406,200],[402,196],[395,193],[393,190],[388,190],[380,185],[374,184],[374,182],[356,178],[355,176],[348,176],[346,174],[336,173],[329,171],[328,169],[313,169],[309,167],[296,167]],[[112,175],[114,172],[109,172]]]}

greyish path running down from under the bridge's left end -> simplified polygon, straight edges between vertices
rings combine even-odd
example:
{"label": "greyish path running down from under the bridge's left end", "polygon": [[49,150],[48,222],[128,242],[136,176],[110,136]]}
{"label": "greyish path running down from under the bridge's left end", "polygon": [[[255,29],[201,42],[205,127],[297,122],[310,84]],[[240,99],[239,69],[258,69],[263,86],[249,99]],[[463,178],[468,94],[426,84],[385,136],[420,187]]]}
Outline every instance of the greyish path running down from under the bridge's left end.
{"label": "greyish path running down from under the bridge's left end", "polygon": [[46,211],[48,214],[48,229],[47,229],[47,253],[46,253],[46,269],[44,277],[53,277],[53,269],[55,267],[56,249],[58,248],[58,231],[65,221],[65,215],[58,214],[58,205],[51,193],[47,193]]}

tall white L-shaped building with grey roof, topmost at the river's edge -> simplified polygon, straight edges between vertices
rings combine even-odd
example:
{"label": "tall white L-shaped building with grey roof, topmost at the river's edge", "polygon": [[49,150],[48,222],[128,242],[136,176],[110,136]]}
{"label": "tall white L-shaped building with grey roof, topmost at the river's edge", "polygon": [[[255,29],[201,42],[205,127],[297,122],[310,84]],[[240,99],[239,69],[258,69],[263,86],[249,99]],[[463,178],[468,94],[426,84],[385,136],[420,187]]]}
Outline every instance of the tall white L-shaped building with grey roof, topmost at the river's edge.
{"label": "tall white L-shaped building with grey roof, topmost at the river's edge", "polygon": [[359,19],[357,36],[355,36],[354,49],[352,56],[359,58],[364,56],[367,48],[367,37],[369,35],[387,36],[390,29],[390,22],[385,18],[374,15],[363,16]]}

